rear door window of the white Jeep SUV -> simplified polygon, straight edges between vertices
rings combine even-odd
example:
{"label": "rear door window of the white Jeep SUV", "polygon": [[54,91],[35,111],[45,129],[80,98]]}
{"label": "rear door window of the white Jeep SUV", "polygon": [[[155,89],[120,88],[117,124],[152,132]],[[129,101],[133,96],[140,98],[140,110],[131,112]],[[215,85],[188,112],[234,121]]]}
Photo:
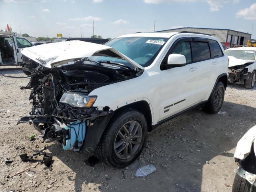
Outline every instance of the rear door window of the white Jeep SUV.
{"label": "rear door window of the white Jeep SUV", "polygon": [[208,42],[194,42],[195,62],[211,58]]}

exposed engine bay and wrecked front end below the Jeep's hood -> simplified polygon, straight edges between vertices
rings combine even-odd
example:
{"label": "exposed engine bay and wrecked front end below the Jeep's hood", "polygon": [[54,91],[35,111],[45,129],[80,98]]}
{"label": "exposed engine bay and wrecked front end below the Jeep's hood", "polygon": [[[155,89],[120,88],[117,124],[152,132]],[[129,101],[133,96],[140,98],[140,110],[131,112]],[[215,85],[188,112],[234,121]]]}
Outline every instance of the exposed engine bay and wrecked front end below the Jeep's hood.
{"label": "exposed engine bay and wrecked front end below the Jeep's hood", "polygon": [[[66,150],[81,151],[94,147],[112,116],[108,106],[93,107],[97,96],[92,90],[108,84],[136,78],[133,68],[118,64],[94,63],[87,58],[74,60],[55,68],[47,68],[23,56],[24,67],[31,73],[27,86],[32,110],[19,123],[33,123],[44,141],[57,140]],[[88,139],[87,139],[88,138]],[[85,143],[86,141],[86,143]]]}

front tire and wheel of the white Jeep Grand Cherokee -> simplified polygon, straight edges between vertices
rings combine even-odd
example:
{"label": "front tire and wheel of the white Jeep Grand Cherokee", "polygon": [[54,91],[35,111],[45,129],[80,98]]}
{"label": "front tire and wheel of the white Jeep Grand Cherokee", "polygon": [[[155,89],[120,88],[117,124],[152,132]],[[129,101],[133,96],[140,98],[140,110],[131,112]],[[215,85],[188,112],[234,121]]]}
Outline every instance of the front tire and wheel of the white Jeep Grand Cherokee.
{"label": "front tire and wheel of the white Jeep Grand Cherokee", "polygon": [[142,152],[148,126],[144,115],[134,109],[121,111],[113,117],[96,147],[96,156],[105,164],[124,168]]}

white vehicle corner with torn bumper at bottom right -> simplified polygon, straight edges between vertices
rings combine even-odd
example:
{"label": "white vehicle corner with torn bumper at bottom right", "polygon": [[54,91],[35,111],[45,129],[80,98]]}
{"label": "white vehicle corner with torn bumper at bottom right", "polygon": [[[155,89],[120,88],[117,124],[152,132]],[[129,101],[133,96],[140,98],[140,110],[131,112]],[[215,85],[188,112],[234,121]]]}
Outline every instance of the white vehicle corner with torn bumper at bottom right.
{"label": "white vehicle corner with torn bumper at bottom right", "polygon": [[253,126],[238,141],[234,154],[238,168],[232,192],[256,191],[256,126]]}

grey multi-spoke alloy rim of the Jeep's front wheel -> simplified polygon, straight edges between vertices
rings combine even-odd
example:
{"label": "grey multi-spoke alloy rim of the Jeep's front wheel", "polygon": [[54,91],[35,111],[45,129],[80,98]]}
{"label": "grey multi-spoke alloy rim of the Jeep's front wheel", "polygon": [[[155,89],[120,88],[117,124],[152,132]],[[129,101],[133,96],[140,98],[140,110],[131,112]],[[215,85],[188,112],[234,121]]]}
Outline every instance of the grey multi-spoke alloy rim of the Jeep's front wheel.
{"label": "grey multi-spoke alloy rim of the Jeep's front wheel", "polygon": [[118,131],[114,151],[118,158],[128,159],[140,147],[142,141],[142,128],[137,121],[126,122]]}

